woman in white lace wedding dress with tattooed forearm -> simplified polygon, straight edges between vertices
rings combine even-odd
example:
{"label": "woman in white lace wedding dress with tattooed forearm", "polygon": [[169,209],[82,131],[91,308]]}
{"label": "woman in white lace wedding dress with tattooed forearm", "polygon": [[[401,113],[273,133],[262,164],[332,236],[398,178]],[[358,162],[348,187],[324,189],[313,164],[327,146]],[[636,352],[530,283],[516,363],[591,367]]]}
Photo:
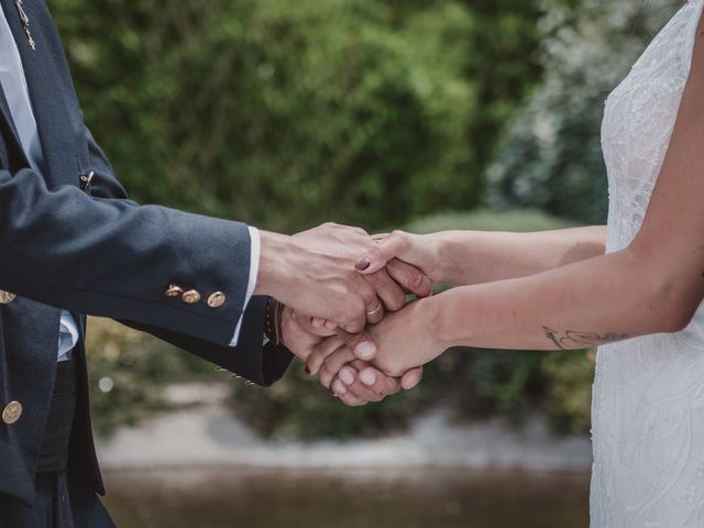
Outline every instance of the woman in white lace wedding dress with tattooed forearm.
{"label": "woman in white lace wedding dress with tattooed forearm", "polygon": [[[458,285],[370,329],[389,375],[457,345],[600,346],[597,528],[704,526],[703,4],[682,7],[606,101],[607,227],[395,232],[358,265],[369,274],[398,257]],[[349,361],[336,340],[311,354],[311,372]]]}

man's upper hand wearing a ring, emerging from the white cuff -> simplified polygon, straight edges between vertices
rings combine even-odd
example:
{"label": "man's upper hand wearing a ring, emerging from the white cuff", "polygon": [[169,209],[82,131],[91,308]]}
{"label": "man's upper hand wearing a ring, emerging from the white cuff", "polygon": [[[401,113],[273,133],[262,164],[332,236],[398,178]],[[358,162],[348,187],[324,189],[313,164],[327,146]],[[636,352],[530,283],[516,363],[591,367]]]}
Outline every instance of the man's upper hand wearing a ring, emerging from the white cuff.
{"label": "man's upper hand wearing a ring, emerging from the white cuff", "polygon": [[431,283],[417,268],[395,261],[376,273],[355,270],[376,242],[363,230],[327,223],[286,237],[261,232],[255,294],[276,298],[297,312],[321,318],[350,333],[380,322],[384,307],[403,308],[405,290],[425,297]]}

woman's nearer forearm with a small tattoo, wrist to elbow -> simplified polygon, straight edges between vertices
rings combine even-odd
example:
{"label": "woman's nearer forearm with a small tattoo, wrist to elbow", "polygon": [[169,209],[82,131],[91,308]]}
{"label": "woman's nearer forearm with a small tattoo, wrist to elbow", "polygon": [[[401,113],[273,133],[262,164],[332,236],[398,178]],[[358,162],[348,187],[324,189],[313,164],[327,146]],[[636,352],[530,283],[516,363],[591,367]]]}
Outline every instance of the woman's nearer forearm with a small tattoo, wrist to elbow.
{"label": "woman's nearer forearm with a small tattoo, wrist to elbow", "polygon": [[[658,273],[660,272],[660,273]],[[582,349],[680,329],[697,306],[628,251],[422,300],[438,345]],[[421,308],[421,307],[419,307]]]}

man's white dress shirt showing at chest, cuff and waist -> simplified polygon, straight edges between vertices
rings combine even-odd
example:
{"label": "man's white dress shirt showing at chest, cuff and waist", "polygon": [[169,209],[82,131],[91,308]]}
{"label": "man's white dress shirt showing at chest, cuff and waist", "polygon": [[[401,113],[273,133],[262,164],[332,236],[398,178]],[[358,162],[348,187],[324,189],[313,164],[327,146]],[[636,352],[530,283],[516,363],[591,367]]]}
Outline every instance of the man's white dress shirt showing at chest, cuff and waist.
{"label": "man's white dress shirt showing at chest, cuff and waist", "polygon": [[[30,165],[34,170],[42,174],[44,168],[44,154],[42,152],[32,103],[30,101],[22,59],[2,8],[0,8],[0,87],[10,107],[14,127]],[[254,228],[249,228],[249,230],[252,241],[251,264],[243,311],[254,293],[261,248],[258,231]],[[243,316],[240,317],[235,324],[234,334],[230,343],[231,346],[235,346],[238,343],[243,318]],[[72,314],[62,310],[59,326],[58,361],[65,361],[70,359],[70,352],[74,346],[76,346],[76,343],[78,343],[78,323]]]}

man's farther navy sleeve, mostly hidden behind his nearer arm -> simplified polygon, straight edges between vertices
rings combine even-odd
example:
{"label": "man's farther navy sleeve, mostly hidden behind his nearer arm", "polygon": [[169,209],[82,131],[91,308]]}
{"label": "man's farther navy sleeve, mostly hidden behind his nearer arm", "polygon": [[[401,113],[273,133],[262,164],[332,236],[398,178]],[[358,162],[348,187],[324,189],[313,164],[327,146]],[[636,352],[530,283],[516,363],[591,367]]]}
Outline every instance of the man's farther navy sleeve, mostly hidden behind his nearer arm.
{"label": "man's farther navy sleeve, mostly hidden behind his nearer arm", "polygon": [[[110,162],[88,129],[86,129],[86,141],[90,169],[96,173],[91,183],[91,195],[96,198],[127,200],[123,186],[116,178]],[[271,343],[262,345],[266,301],[267,298],[256,296],[250,300],[242,318],[240,340],[235,349],[187,336],[182,331],[145,326],[134,320],[123,319],[121,322],[148,332],[258,385],[270,386],[284,375],[293,355],[284,346],[275,346]],[[232,321],[232,329],[237,320]]]}

